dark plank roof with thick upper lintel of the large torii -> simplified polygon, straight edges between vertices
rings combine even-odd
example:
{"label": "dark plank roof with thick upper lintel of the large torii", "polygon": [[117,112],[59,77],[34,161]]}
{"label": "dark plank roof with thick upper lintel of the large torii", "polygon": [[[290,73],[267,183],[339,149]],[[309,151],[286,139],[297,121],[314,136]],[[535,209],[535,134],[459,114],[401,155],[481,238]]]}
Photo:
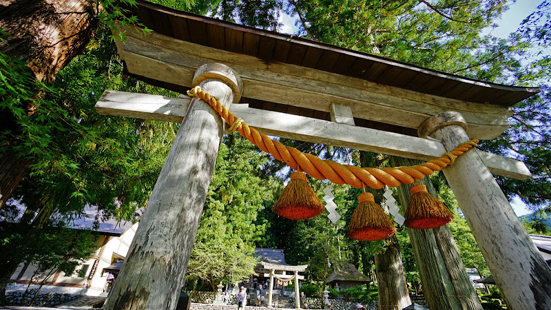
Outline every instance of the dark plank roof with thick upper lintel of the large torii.
{"label": "dark plank roof with thick upper lintel of the large torii", "polygon": [[[417,136],[428,117],[460,112],[471,138],[495,138],[510,105],[537,87],[499,85],[333,45],[137,1],[129,14],[154,30],[127,31],[118,51],[131,76],[185,93],[204,63],[229,65],[249,107],[330,120],[331,104],[352,108],[355,125]],[[131,30],[132,26],[123,27]]]}

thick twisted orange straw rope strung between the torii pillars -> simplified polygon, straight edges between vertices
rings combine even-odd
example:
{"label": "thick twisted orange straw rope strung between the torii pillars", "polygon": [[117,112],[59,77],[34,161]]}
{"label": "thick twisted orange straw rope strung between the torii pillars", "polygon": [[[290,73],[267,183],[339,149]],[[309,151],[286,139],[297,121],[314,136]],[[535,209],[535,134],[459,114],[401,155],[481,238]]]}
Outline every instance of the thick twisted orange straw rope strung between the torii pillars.
{"label": "thick twisted orange straw rope strung between the torii pillars", "polygon": [[477,146],[478,140],[473,139],[462,143],[453,151],[446,152],[440,158],[433,159],[420,165],[411,167],[388,167],[388,168],[362,168],[353,165],[341,165],[334,161],[322,160],[318,156],[302,153],[294,147],[285,146],[278,141],[273,141],[265,134],[260,134],[253,127],[249,127],[245,122],[238,121],[236,126],[234,122],[238,118],[233,116],[218,99],[201,90],[196,86],[187,92],[188,96],[198,97],[209,103],[216,112],[224,118],[226,123],[232,125],[241,136],[244,136],[253,145],[258,146],[262,151],[271,154],[278,161],[284,161],[291,168],[306,172],[313,178],[320,180],[330,180],[335,184],[349,184],[356,188],[363,188],[365,185],[373,189],[381,189],[384,185],[389,187],[398,187],[402,183],[412,184],[415,180],[421,180],[425,176],[430,176],[436,171],[451,165],[455,158],[471,147]]}

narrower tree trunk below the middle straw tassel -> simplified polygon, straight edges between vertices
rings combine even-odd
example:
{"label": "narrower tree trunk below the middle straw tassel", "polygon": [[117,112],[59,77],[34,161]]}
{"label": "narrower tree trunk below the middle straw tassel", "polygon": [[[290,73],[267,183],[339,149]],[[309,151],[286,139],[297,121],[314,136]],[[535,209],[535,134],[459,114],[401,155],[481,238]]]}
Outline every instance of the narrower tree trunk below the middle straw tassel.
{"label": "narrower tree trunk below the middle straw tassel", "polygon": [[402,255],[396,235],[385,240],[385,251],[375,254],[380,310],[402,310],[411,304]]}

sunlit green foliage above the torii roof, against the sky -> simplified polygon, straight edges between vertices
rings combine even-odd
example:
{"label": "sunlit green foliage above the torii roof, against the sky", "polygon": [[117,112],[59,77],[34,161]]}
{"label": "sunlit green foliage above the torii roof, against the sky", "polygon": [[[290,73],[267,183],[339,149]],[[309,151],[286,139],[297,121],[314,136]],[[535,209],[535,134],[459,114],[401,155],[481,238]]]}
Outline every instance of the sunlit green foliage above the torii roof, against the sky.
{"label": "sunlit green foliage above the torii roof, against the sky", "polygon": [[291,3],[287,12],[302,17],[302,34],[311,39],[450,72],[481,63],[470,51],[491,42],[479,30],[506,9],[503,0]]}

